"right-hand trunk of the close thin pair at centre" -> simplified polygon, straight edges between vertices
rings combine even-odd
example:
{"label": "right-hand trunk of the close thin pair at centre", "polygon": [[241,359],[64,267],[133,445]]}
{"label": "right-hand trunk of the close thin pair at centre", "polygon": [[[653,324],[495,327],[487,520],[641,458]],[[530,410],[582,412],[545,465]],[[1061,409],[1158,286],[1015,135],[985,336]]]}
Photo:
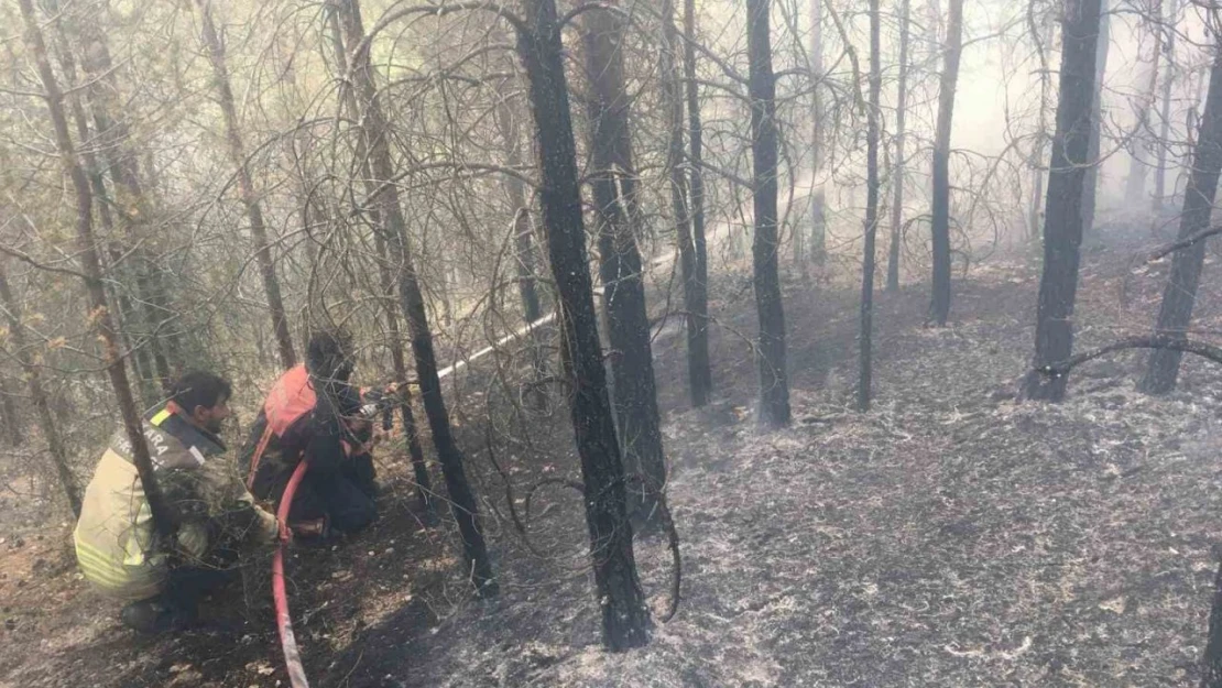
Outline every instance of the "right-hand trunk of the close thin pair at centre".
{"label": "right-hand trunk of the close thin pair at centre", "polygon": [[[667,15],[667,23],[668,15]],[[699,408],[712,396],[712,365],[709,358],[709,251],[704,236],[704,125],[700,121],[700,84],[695,73],[695,0],[683,0],[683,76],[687,90],[688,150],[690,186],[688,187],[688,229],[692,231],[693,264],[688,274],[683,263],[683,308],[687,325],[688,393]],[[670,40],[671,49],[675,40]],[[681,110],[682,114],[682,110]],[[675,112],[671,112],[673,116]],[[673,123],[672,123],[673,126]],[[675,132],[671,132],[672,145]],[[682,137],[679,138],[682,145]],[[681,152],[682,153],[682,152]],[[673,152],[671,155],[673,156]],[[682,235],[683,227],[679,227]],[[682,249],[682,236],[681,246]],[[682,253],[682,251],[681,251]],[[681,255],[681,260],[683,257]]]}

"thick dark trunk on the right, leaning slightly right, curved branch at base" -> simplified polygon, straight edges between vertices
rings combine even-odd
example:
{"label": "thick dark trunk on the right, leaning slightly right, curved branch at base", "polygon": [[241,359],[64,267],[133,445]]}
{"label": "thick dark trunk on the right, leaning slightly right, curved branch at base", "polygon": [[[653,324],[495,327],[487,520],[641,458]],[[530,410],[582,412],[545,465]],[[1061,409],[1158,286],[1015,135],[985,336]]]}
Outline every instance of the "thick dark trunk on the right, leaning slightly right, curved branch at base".
{"label": "thick dark trunk on the right, leaning slightly right, curved branch at base", "polygon": [[[1035,320],[1035,365],[1039,369],[1073,353],[1073,308],[1078,295],[1081,246],[1081,193],[1090,147],[1090,106],[1095,92],[1095,42],[1100,0],[1068,0],[1062,20],[1061,84],[1057,128],[1052,141],[1047,211],[1044,215],[1044,276]],[[1028,398],[1061,401],[1066,375],[1028,375]]]}

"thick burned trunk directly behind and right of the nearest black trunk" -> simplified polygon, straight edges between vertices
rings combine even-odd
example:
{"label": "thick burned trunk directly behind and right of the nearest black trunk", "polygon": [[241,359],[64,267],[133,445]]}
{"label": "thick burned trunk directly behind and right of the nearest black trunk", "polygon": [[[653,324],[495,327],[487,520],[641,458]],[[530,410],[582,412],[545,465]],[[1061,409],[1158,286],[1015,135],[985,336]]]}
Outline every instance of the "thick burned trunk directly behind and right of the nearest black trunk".
{"label": "thick burned trunk directly behind and right of the nearest black trunk", "polygon": [[[664,2],[662,7],[668,10],[668,4]],[[590,174],[599,219],[599,276],[606,291],[607,337],[612,349],[612,402],[620,422],[626,470],[643,477],[653,488],[629,490],[629,507],[650,513],[655,501],[651,495],[666,484],[666,457],[649,346],[645,282],[637,249],[640,213],[634,196],[637,169],[628,130],[631,100],[623,84],[623,26],[609,10],[601,9],[587,12],[584,21],[585,68],[590,82]],[[682,110],[678,126],[682,131]],[[679,147],[682,155],[682,138]],[[682,170],[676,171],[682,177]],[[672,185],[672,193],[673,188]]]}

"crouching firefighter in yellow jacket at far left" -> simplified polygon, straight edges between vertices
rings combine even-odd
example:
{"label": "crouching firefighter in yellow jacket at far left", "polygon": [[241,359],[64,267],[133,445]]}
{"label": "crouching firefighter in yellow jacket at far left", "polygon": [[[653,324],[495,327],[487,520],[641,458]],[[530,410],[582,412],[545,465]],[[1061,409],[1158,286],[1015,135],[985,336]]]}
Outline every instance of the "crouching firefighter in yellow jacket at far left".
{"label": "crouching firefighter in yellow jacket at far left", "polygon": [[158,484],[178,517],[172,541],[153,528],[122,429],[86,490],[73,532],[77,562],[103,594],[128,602],[120,618],[136,631],[192,624],[200,599],[235,578],[237,547],[275,539],[275,517],[254,505],[225,461],[218,434],[230,395],[218,375],[187,373],[144,422]]}

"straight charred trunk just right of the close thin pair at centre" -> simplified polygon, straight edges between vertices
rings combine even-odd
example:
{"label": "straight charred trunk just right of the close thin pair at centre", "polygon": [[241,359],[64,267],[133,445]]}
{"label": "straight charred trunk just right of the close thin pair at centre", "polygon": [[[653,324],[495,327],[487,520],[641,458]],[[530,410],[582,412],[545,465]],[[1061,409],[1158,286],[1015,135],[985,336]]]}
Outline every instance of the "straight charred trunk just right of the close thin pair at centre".
{"label": "straight charred trunk just right of the close thin pair at centre", "polygon": [[785,354],[785,310],[777,274],[776,78],[769,35],[769,0],[747,0],[748,93],[752,100],[752,169],[755,205],[755,308],[759,312],[760,424],[789,424],[789,380]]}

